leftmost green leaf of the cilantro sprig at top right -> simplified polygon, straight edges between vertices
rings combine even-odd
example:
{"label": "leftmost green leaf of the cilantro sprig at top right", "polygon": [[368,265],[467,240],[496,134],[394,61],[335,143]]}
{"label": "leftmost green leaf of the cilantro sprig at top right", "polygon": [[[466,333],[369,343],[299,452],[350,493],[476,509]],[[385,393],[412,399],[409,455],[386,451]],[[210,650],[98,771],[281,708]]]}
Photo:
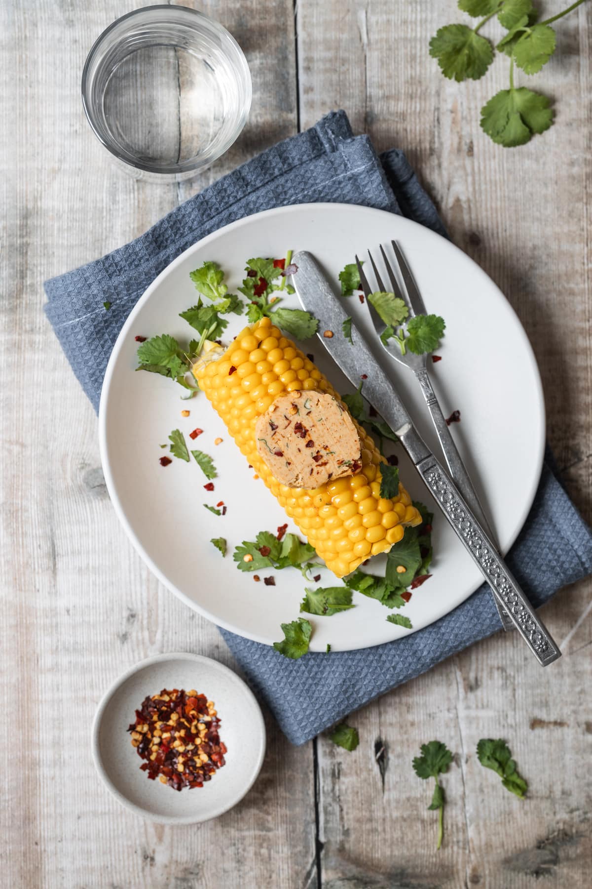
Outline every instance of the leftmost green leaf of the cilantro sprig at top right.
{"label": "leftmost green leaf of the cilantro sprig at top right", "polygon": [[478,80],[492,63],[493,47],[466,25],[445,25],[430,40],[430,56],[438,60],[445,77]]}

